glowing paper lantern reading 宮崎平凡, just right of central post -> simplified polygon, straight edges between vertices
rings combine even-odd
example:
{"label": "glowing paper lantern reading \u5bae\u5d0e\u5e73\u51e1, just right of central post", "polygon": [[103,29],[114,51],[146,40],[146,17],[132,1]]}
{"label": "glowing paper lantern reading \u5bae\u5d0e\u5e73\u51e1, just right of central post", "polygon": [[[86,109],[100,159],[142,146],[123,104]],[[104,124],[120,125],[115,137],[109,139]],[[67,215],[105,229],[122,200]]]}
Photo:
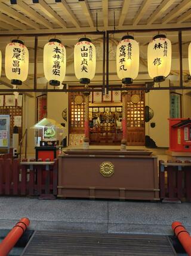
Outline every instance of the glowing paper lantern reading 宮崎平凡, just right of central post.
{"label": "glowing paper lantern reading \u5bae\u5d0e\u5e73\u51e1, just right of central post", "polygon": [[138,76],[139,46],[131,35],[119,42],[116,50],[116,69],[122,83],[130,84]]}

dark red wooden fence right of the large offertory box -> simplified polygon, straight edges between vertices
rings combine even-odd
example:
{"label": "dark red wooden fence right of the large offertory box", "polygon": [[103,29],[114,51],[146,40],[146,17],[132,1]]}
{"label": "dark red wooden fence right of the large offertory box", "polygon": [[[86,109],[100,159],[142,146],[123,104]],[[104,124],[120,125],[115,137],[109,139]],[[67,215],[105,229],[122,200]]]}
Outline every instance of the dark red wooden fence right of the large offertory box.
{"label": "dark red wooden fence right of the large offertory box", "polygon": [[159,161],[159,181],[162,200],[191,201],[191,162]]}

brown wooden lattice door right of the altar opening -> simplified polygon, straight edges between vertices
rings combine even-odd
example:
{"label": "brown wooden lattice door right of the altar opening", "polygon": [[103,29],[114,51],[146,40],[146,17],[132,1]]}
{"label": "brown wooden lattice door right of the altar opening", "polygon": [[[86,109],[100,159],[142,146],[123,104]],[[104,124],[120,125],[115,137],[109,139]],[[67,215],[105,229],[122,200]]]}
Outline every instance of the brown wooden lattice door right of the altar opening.
{"label": "brown wooden lattice door right of the altar opening", "polygon": [[144,145],[144,91],[127,93],[127,144]]}

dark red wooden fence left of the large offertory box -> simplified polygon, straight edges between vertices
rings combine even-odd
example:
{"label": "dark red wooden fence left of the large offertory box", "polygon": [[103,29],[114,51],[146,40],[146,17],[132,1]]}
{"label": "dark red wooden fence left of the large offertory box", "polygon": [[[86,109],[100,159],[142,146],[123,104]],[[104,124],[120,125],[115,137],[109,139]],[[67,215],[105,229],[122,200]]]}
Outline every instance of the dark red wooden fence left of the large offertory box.
{"label": "dark red wooden fence left of the large offertory box", "polygon": [[0,195],[57,195],[58,160],[0,158]]}

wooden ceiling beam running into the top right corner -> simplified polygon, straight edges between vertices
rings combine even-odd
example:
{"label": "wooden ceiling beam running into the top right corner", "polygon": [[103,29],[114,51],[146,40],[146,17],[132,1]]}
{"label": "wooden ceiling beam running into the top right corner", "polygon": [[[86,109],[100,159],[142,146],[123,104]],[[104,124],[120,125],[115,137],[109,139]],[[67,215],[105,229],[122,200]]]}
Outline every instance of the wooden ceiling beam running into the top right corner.
{"label": "wooden ceiling beam running into the top right corner", "polygon": [[173,8],[170,13],[168,13],[163,19],[162,24],[167,24],[172,19],[177,17],[179,14],[183,13],[186,9],[191,7],[191,1],[190,0],[184,0],[180,4],[178,4],[177,7]]}

